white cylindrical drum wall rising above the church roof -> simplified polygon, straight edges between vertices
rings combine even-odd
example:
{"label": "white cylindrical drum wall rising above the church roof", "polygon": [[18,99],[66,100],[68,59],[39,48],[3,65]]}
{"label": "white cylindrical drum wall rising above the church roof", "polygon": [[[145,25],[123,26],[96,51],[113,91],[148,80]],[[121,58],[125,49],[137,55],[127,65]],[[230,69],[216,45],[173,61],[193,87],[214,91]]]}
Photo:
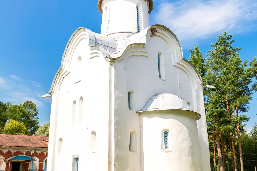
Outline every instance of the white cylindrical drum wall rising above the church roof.
{"label": "white cylindrical drum wall rising above the church roof", "polygon": [[116,38],[126,32],[136,33],[136,6],[140,8],[140,30],[150,26],[148,6],[144,0],[103,0],[103,4],[101,34],[105,36]]}

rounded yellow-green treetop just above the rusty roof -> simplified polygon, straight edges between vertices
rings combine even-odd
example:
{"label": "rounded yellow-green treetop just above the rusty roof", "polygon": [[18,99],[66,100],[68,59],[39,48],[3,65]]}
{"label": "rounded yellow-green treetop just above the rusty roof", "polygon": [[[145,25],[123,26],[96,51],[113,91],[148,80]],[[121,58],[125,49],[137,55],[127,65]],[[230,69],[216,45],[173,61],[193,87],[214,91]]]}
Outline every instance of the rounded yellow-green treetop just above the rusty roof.
{"label": "rounded yellow-green treetop just above the rusty roof", "polygon": [[11,135],[29,135],[29,131],[27,130],[24,123],[15,120],[7,122],[1,133]]}

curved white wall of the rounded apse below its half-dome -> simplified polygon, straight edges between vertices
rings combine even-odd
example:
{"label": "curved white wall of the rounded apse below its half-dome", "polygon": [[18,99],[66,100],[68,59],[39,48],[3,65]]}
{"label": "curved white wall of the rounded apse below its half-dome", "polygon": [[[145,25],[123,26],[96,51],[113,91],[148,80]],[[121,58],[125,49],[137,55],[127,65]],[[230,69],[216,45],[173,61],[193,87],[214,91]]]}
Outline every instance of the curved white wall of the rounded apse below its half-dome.
{"label": "curved white wall of the rounded apse below its half-dome", "polygon": [[[142,112],[140,123],[141,170],[203,170],[195,113]],[[164,129],[168,131],[168,150],[162,149]]]}

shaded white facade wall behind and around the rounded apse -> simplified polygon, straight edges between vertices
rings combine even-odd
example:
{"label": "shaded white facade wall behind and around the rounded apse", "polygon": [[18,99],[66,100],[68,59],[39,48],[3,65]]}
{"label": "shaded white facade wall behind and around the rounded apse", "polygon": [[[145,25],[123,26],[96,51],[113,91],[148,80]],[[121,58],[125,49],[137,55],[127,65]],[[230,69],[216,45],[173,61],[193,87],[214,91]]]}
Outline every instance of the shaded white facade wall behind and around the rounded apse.
{"label": "shaded white facade wall behind and around the rounded apse", "polygon": [[[159,33],[160,32],[160,33]],[[190,102],[192,109],[199,112],[203,117],[197,123],[199,130],[200,145],[203,158],[204,171],[210,170],[210,161],[207,155],[209,150],[208,136],[206,132],[206,120],[202,87],[196,76],[184,62],[179,60],[177,44],[168,35],[158,30],[156,36],[150,37],[150,31],[146,34],[145,47],[128,48],[120,60],[115,61],[115,166],[119,170],[140,170],[142,168],[140,154],[129,152],[129,132],[140,131],[138,123],[140,116],[136,111],[142,109],[146,101],[157,93],[171,93],[180,96],[186,102]],[[165,80],[158,76],[157,54],[164,56]],[[131,109],[128,110],[128,91],[131,95]],[[201,98],[198,98],[201,96]],[[205,123],[205,126],[204,126]],[[138,134],[137,134],[138,135]],[[123,137],[123,138],[121,138]],[[142,137],[141,137],[142,138]],[[198,136],[194,137],[198,141]],[[202,141],[201,139],[206,139]],[[137,140],[140,143],[139,139]],[[203,151],[204,150],[204,151]],[[199,156],[197,156],[199,157]],[[199,161],[199,160],[198,160]],[[143,171],[143,170],[142,170]]]}

